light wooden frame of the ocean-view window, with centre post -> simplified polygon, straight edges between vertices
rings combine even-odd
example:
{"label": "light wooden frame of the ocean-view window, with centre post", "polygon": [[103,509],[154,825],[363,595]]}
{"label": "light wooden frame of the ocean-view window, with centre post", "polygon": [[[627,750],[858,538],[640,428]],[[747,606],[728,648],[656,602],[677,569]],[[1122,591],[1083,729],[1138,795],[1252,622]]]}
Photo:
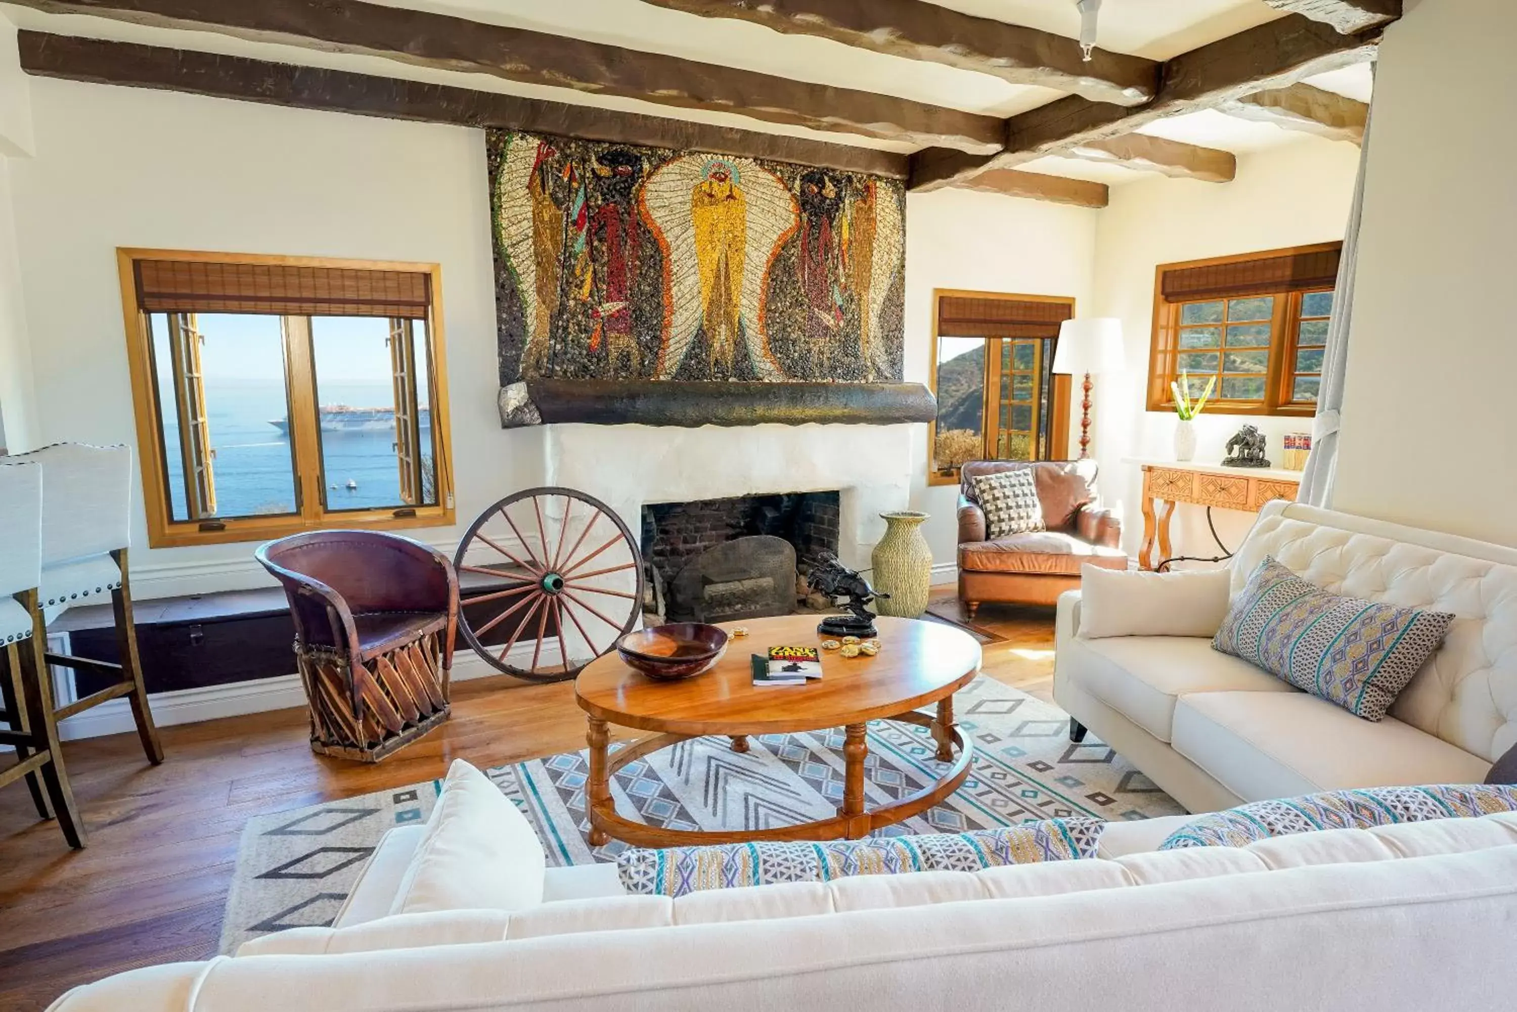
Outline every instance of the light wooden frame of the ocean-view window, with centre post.
{"label": "light wooden frame of the ocean-view window, with centre post", "polygon": [[[429,275],[431,305],[428,306],[425,322],[431,347],[428,382],[431,388],[431,431],[435,442],[437,504],[331,511],[323,507],[320,420],[317,413],[309,317],[291,316],[284,317],[284,354],[285,382],[290,398],[290,440],[293,445],[296,511],[284,516],[174,520],[173,501],[168,493],[164,438],[159,428],[162,414],[153,370],[149,314],[141,308],[137,297],[135,264],[140,259],[397,270]],[[117,270],[121,284],[126,355],[132,381],[132,407],[137,414],[137,446],[143,475],[143,504],[147,513],[147,543],[150,548],[264,542],[287,534],[332,528],[404,530],[454,525],[454,454],[448,423],[448,341],[443,329],[443,276],[438,264],[118,247]]]}

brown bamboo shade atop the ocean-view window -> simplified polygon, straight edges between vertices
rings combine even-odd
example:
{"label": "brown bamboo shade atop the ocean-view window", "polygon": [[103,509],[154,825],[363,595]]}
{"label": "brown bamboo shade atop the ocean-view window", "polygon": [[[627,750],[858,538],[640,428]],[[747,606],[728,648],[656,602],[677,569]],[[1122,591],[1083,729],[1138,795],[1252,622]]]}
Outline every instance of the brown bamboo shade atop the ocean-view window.
{"label": "brown bamboo shade atop the ocean-view window", "polygon": [[269,313],[426,319],[431,275],[355,267],[140,259],[137,303],[147,313]]}

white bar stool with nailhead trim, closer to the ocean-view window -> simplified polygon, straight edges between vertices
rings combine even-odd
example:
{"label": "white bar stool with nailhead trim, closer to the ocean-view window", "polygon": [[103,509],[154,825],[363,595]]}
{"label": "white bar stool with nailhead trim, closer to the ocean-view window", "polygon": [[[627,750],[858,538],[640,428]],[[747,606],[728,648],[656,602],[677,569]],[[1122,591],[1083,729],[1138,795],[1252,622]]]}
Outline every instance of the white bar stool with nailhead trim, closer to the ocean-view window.
{"label": "white bar stool with nailhead trim, closer to the ocean-view window", "polygon": [[42,586],[47,622],[74,605],[94,604],[108,593],[115,624],[117,662],[47,654],[47,662],[117,681],[67,702],[47,715],[56,724],[109,699],[126,696],[147,760],[164,762],[164,746],[147,706],[143,663],[137,654],[132,618],[132,580],[127,554],[132,543],[132,448],[56,443],[11,461],[42,466]]}

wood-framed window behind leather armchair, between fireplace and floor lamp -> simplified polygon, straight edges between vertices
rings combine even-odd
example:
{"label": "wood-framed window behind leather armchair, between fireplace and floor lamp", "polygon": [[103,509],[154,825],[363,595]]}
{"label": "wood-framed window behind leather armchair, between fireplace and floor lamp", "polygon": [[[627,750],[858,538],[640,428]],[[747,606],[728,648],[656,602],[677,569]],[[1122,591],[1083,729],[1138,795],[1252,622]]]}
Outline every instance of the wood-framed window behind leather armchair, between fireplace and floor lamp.
{"label": "wood-framed window behind leather armchair, between fireplace and floor lamp", "polygon": [[966,460],[1060,460],[1069,443],[1069,378],[1054,376],[1059,325],[1074,299],[933,293],[927,479],[959,481]]}

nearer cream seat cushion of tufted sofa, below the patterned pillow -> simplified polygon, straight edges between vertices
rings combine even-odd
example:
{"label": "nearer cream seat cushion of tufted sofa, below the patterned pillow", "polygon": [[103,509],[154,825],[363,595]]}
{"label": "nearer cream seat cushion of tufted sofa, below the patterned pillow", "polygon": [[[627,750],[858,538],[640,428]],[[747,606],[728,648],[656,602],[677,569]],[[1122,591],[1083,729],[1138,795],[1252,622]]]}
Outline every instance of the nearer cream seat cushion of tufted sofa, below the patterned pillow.
{"label": "nearer cream seat cushion of tufted sofa, below the patterned pillow", "polygon": [[1294,689],[1183,696],[1174,709],[1173,743],[1248,800],[1341,787],[1479,783],[1490,768],[1479,756],[1400,721],[1370,724]]}

